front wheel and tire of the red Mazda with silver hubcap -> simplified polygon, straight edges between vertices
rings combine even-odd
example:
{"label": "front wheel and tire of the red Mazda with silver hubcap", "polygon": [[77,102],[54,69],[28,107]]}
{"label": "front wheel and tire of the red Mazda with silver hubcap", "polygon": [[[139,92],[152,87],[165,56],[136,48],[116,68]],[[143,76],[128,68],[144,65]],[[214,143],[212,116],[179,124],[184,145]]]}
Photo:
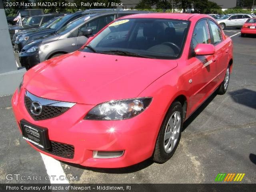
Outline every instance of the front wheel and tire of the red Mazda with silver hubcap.
{"label": "front wheel and tire of the red Mazda with silver hubcap", "polygon": [[[176,124],[174,123],[175,119]],[[152,155],[154,162],[162,164],[173,156],[180,142],[182,125],[182,105],[180,102],[176,101],[170,106],[158,133],[154,153]]]}

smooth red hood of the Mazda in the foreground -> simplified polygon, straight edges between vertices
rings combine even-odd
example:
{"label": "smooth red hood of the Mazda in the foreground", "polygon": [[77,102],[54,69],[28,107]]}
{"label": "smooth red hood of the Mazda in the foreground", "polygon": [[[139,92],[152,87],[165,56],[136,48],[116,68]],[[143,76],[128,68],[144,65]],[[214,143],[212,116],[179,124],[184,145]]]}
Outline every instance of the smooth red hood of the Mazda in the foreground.
{"label": "smooth red hood of the Mazda in the foreground", "polygon": [[135,98],[176,66],[175,60],[76,51],[30,69],[23,85],[42,98],[99,104]]}

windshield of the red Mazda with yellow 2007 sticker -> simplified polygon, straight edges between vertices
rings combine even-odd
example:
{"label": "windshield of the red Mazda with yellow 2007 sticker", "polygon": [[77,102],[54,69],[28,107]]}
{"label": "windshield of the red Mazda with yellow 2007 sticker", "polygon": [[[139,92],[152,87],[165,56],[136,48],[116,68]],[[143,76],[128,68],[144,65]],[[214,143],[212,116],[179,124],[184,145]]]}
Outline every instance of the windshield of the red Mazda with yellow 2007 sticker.
{"label": "windshield of the red Mazda with yellow 2007 sticker", "polygon": [[80,51],[158,59],[181,54],[188,21],[133,18],[110,24]]}

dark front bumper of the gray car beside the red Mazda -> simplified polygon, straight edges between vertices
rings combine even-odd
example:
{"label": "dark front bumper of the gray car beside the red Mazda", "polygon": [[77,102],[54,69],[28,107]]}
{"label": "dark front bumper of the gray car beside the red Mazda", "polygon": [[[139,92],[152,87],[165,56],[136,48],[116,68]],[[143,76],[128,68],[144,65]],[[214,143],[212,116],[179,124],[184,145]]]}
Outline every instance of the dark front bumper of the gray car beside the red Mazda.
{"label": "dark front bumper of the gray car beside the red Mazda", "polygon": [[31,53],[23,53],[19,54],[19,60],[21,66],[28,68],[32,68],[33,66],[40,63],[39,51],[31,52]]}

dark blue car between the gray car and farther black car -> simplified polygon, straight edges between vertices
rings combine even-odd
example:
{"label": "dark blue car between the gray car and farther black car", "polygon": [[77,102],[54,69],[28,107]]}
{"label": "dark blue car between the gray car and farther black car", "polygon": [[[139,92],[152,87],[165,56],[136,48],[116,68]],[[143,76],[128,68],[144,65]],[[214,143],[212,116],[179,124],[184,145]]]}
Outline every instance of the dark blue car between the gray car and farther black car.
{"label": "dark blue car between the gray car and farther black car", "polygon": [[87,14],[91,14],[91,13],[97,13],[97,12],[106,12],[109,10],[85,10],[85,11],[80,11],[80,12],[76,12],[74,14],[66,14],[65,16],[59,18],[58,20],[54,21],[50,26],[48,26],[48,28],[41,30],[38,29],[34,32],[29,32],[26,33],[22,36],[20,36],[20,38],[17,38],[16,42],[15,42],[15,46],[14,46],[14,50],[16,52],[20,52],[22,50],[22,48],[30,41],[36,39],[36,38],[40,38],[42,36],[45,35],[49,35],[49,34],[54,34],[56,33],[58,30],[60,30],[63,26],[65,26],[66,24],[68,24],[69,22],[82,17],[84,15]]}

